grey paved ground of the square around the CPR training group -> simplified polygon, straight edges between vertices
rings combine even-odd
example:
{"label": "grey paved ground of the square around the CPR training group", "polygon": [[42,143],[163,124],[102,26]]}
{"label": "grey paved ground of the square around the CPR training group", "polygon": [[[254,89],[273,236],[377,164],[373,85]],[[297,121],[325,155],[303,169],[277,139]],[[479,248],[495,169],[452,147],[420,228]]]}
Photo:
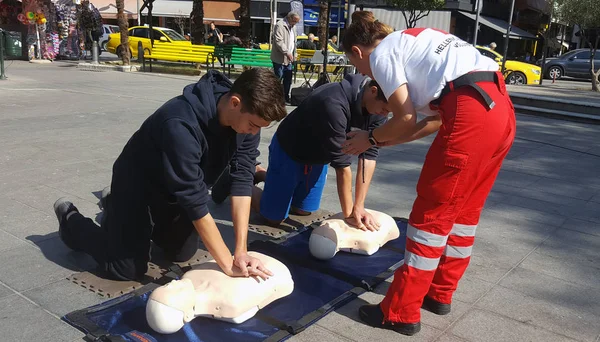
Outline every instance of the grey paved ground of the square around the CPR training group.
{"label": "grey paved ground of the square around the CPR training group", "polygon": [[[57,236],[52,204],[88,215],[112,163],[143,120],[195,77],[8,63],[0,81],[0,336],[81,341],[60,320],[103,299],[65,280],[93,266]],[[600,341],[600,126],[519,116],[518,139],[483,212],[453,312],[423,311],[412,338],[369,328],[357,308],[292,341]],[[276,127],[263,130],[261,161]],[[431,139],[384,149],[367,206],[407,216]],[[323,207],[339,210],[330,169]]]}

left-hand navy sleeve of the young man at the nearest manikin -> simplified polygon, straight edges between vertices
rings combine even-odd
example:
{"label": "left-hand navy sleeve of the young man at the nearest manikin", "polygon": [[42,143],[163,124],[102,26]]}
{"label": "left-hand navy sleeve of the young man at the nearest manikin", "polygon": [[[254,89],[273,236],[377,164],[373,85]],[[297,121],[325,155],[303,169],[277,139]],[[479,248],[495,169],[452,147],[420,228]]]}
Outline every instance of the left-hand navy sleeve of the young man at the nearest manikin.
{"label": "left-hand navy sleeve of the young man at the nearest manikin", "polygon": [[161,159],[167,189],[192,221],[201,219],[208,214],[208,189],[200,168],[204,139],[191,125],[175,118],[163,123],[161,133]]}

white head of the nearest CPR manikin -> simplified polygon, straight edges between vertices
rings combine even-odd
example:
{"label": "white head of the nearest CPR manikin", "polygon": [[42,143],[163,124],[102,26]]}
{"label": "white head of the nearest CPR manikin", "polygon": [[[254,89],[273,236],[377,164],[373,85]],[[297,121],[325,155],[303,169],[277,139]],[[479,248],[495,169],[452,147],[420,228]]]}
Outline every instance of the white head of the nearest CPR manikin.
{"label": "white head of the nearest CPR manikin", "polygon": [[196,290],[189,279],[173,280],[154,290],[146,305],[146,320],[161,334],[179,331],[194,319]]}

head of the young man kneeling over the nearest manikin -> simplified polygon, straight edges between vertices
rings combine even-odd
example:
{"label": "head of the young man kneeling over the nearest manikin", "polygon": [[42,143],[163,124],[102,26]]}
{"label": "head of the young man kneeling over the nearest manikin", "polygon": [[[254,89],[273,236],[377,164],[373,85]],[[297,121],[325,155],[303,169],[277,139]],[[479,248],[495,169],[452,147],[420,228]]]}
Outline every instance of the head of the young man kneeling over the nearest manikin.
{"label": "head of the young man kneeling over the nearest manikin", "polygon": [[261,127],[287,114],[281,82],[273,71],[244,71],[217,104],[219,122],[241,134],[257,134]]}

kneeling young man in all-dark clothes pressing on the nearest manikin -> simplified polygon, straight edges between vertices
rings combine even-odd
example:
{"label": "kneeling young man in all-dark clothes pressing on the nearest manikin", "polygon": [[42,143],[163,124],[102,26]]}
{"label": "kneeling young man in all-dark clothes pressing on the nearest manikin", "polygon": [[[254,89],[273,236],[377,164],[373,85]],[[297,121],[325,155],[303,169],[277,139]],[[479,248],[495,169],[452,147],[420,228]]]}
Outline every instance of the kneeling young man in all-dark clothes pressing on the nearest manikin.
{"label": "kneeling young man in all-dark clothes pressing on the nearest manikin", "polygon": [[[125,145],[103,196],[101,227],[69,201],[54,204],[62,241],[91,255],[119,280],[141,279],[151,241],[172,261],[189,260],[199,239],[229,276],[271,275],[247,254],[260,128],[286,115],[281,84],[268,69],[231,83],[209,71],[152,114]],[[208,212],[208,188],[229,166],[236,237],[232,257]]]}

